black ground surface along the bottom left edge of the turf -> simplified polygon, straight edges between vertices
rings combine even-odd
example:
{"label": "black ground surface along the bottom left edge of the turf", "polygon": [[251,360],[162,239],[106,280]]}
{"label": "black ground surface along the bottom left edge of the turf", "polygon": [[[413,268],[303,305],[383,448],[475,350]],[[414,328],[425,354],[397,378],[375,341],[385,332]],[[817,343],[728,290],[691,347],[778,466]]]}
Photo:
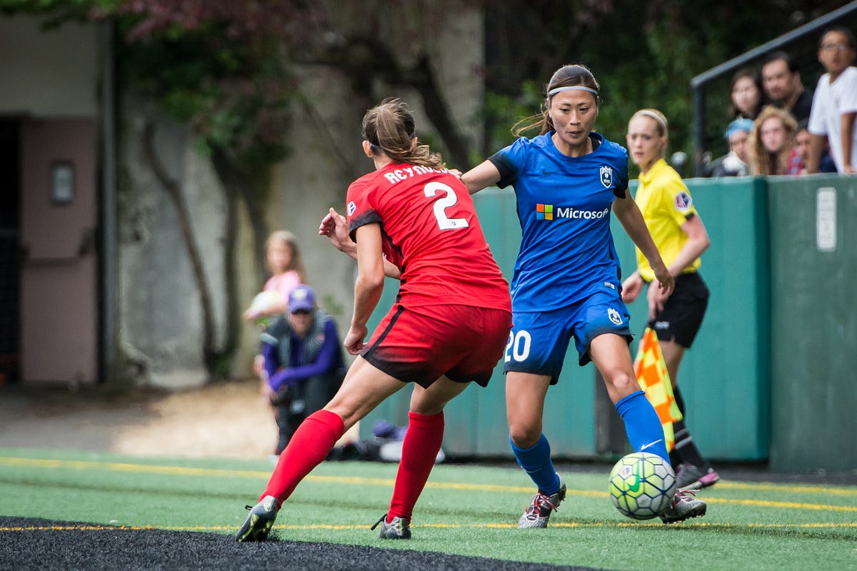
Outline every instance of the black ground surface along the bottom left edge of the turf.
{"label": "black ground surface along the bottom left edge of the turf", "polygon": [[0,570],[81,571],[592,571],[411,550],[269,540],[211,532],[135,530],[0,516]]}

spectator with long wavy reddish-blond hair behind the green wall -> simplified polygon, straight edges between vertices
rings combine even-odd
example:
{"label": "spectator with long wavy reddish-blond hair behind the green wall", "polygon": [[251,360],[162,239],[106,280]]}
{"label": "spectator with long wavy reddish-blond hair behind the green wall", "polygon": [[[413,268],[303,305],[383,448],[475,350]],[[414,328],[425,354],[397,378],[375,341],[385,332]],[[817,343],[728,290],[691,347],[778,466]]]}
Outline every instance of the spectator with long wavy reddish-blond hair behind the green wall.
{"label": "spectator with long wavy reddish-blond hair behind the green wall", "polygon": [[788,111],[773,105],[759,113],[750,135],[750,173],[785,175],[788,157],[794,147],[797,122]]}

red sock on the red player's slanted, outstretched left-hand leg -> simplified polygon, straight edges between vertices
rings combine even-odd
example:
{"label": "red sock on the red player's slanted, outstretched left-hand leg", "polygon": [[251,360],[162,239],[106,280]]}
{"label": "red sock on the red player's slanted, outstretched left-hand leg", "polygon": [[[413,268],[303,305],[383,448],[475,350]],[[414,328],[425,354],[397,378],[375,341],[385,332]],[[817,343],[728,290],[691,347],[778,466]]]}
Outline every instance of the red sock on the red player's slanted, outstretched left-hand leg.
{"label": "red sock on the red player's slanted, outstretched left-hand leg", "polygon": [[280,504],[285,502],[298,483],[327,458],[333,444],[344,433],[345,425],[339,414],[323,409],[310,414],[297,427],[288,446],[279,455],[277,467],[273,469],[259,501],[263,497],[273,496],[279,498]]}

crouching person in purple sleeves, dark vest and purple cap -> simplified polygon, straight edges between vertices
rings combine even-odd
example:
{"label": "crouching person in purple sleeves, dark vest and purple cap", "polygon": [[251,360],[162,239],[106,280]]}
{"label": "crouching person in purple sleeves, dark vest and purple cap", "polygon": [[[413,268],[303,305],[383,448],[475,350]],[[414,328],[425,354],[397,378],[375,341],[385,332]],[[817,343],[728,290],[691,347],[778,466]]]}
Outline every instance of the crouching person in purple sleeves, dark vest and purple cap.
{"label": "crouching person in purple sleeves, dark vest and purple cap", "polygon": [[345,361],[336,322],[319,309],[308,285],[291,290],[289,311],[273,320],[261,342],[279,455],[303,419],[333,398],[345,377]]}

